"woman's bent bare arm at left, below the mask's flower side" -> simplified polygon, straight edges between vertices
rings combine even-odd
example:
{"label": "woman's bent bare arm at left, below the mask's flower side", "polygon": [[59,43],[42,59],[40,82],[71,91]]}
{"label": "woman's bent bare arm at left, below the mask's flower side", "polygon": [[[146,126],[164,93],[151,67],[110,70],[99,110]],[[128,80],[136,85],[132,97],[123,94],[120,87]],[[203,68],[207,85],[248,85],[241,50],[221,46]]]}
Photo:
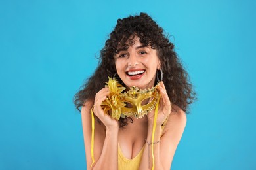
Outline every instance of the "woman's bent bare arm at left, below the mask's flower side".
{"label": "woman's bent bare arm at left, below the mask's flower side", "polygon": [[[102,99],[97,99],[97,102],[102,103],[101,100],[104,100],[104,97]],[[83,106],[81,110],[87,169],[100,169],[100,170],[116,169],[117,170],[118,169],[117,135],[118,135],[118,129],[119,129],[118,124],[116,120],[112,120],[110,116],[104,114],[104,112],[100,110],[101,108],[98,107],[96,100],[94,105],[95,105],[94,111],[96,112],[98,118],[102,121],[102,123],[99,124],[97,121],[95,121],[95,139],[94,139],[95,163],[93,163],[92,167],[91,167],[91,163],[93,162],[93,160],[91,158],[91,136],[92,136],[91,108],[93,107],[93,102],[88,101],[87,103],[85,103],[85,106]]]}

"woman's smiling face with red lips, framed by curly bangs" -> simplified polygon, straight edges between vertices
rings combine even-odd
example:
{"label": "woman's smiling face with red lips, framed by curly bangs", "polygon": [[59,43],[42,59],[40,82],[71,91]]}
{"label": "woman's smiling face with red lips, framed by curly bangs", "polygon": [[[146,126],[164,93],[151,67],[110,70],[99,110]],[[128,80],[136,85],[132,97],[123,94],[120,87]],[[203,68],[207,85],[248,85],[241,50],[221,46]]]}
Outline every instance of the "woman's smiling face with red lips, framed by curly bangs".
{"label": "woman's smiling face with red lips, framed by curly bangs", "polygon": [[160,69],[160,60],[156,50],[140,43],[139,37],[133,39],[127,50],[116,54],[116,70],[123,83],[129,88],[152,88],[156,79],[156,70]]}

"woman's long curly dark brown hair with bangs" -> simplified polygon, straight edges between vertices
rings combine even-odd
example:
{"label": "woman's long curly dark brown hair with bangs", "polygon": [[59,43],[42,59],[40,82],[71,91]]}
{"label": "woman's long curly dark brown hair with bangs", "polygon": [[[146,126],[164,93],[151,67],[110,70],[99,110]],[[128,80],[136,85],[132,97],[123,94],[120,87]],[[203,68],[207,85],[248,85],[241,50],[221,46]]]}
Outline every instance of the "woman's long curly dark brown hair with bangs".
{"label": "woman's long curly dark brown hair with bangs", "polygon": [[[95,99],[96,93],[104,88],[104,82],[108,82],[108,76],[114,77],[116,54],[129,48],[131,44],[127,44],[127,41],[133,40],[135,36],[139,37],[140,43],[157,50],[163,71],[163,82],[171,103],[180,107],[184,112],[188,111],[188,105],[196,99],[188,73],[182,67],[182,63],[174,51],[174,45],[169,42],[163,29],[146,13],[117,20],[114,31],[110,33],[109,39],[106,40],[104,48],[100,51],[95,73],[87,79],[81,90],[74,96],[74,103],[78,110],[85,104],[85,101]],[[118,80],[122,84],[121,79]],[[119,126],[123,127],[128,122],[128,118],[121,118]]]}

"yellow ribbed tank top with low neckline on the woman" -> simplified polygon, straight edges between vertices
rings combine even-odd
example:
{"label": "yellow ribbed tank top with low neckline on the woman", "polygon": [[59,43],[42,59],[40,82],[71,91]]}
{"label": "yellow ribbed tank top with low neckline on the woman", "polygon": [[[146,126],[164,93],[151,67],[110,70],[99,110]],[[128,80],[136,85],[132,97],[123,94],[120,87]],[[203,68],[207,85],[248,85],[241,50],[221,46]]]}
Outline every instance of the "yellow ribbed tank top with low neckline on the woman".
{"label": "yellow ribbed tank top with low neckline on the woman", "polygon": [[140,160],[144,151],[144,147],[140,150],[139,154],[133,159],[127,159],[118,144],[118,170],[137,170],[140,166]]}

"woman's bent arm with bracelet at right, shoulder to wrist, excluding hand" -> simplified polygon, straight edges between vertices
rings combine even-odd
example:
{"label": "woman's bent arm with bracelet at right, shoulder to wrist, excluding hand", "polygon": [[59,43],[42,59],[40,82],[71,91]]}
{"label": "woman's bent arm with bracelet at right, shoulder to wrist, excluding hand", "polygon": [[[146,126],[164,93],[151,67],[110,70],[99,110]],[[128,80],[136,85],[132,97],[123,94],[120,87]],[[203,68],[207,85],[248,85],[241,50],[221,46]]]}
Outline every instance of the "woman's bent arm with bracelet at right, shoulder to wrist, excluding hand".
{"label": "woman's bent arm with bracelet at right, shoulder to wrist, excluding hand", "polygon": [[[163,134],[161,126],[156,127],[154,142],[161,141],[160,143],[153,144],[155,170],[169,170],[171,168],[171,162],[173,161],[175,150],[179,144],[179,141],[181,140],[185,126],[186,114],[180,109],[175,113],[171,112],[167,120],[167,124],[165,125]],[[152,129],[152,126],[148,126],[148,137],[146,139],[148,143],[152,143]],[[142,160],[140,162],[140,169],[148,169],[148,165],[150,165],[150,169],[152,169],[152,150],[151,146],[148,147],[148,144],[146,143]]]}

